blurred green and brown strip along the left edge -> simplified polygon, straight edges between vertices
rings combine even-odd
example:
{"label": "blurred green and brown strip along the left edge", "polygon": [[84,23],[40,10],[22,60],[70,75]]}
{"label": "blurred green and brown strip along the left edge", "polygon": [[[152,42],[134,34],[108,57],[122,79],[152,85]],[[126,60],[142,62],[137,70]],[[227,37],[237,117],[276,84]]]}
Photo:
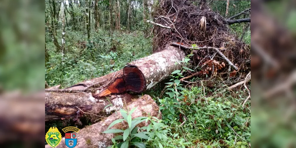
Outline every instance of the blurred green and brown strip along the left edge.
{"label": "blurred green and brown strip along the left edge", "polygon": [[44,1],[0,1],[0,145],[44,146]]}

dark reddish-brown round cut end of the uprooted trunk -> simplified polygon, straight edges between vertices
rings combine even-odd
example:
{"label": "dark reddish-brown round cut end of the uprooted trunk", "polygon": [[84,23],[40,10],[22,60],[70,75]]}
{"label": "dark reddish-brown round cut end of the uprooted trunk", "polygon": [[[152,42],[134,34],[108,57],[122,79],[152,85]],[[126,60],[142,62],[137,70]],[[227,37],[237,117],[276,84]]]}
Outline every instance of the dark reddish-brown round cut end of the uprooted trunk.
{"label": "dark reddish-brown round cut end of the uprooted trunk", "polygon": [[143,92],[146,88],[144,74],[134,65],[127,65],[123,68],[123,78],[127,91]]}

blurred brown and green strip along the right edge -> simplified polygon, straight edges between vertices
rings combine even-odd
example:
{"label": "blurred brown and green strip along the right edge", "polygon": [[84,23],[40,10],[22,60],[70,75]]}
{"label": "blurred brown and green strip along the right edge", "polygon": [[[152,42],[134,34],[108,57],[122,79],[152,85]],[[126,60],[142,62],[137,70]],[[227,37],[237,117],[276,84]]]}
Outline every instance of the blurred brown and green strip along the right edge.
{"label": "blurred brown and green strip along the right edge", "polygon": [[251,1],[253,147],[296,147],[296,1]]}

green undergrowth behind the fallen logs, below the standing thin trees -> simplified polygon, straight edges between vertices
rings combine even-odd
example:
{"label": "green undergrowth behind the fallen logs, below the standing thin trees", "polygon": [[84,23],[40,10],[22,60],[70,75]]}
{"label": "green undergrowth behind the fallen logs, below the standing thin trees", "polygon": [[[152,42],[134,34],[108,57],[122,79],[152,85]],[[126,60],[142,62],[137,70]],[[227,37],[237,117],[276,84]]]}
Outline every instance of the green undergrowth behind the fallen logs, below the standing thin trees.
{"label": "green undergrowth behind the fallen logs, below the standing thin trees", "polygon": [[[60,32],[57,38],[61,38],[62,31],[57,32]],[[56,52],[52,41],[46,40],[50,58],[45,67],[45,81],[49,86],[61,84],[61,88],[65,88],[118,71],[128,62],[152,54],[151,38],[145,39],[141,31],[109,33],[98,30],[92,32],[90,40],[85,38],[83,31],[67,33],[63,56]]]}

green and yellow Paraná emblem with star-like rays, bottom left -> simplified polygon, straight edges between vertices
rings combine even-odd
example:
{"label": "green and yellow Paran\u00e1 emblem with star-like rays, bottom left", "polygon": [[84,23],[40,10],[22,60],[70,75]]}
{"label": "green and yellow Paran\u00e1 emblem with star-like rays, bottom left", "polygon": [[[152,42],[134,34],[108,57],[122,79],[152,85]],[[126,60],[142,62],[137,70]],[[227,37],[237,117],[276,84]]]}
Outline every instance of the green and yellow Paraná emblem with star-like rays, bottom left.
{"label": "green and yellow Paran\u00e1 emblem with star-like rays, bottom left", "polygon": [[49,128],[45,140],[51,147],[56,147],[62,140],[62,135],[56,127]]}

